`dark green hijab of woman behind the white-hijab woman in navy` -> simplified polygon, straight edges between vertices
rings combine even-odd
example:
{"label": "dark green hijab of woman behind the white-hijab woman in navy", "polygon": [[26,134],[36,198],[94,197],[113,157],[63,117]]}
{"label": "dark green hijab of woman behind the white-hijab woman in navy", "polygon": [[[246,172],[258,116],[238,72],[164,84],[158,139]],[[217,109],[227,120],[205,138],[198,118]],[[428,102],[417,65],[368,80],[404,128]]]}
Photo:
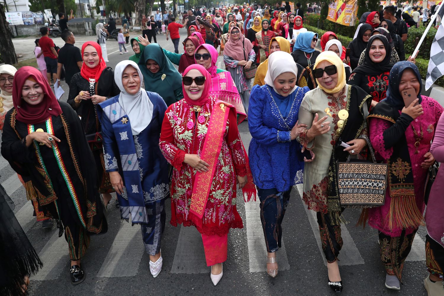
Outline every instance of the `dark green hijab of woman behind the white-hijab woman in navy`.
{"label": "dark green hijab of woman behind the white-hijab woman in navy", "polygon": [[[159,71],[152,73],[147,69],[148,59],[159,64]],[[138,66],[142,71],[145,89],[157,92],[165,101],[167,106],[176,103],[174,92],[182,91],[182,76],[176,70],[163,53],[162,47],[158,43],[151,43],[145,46],[140,55]],[[163,78],[163,79],[162,79]]]}

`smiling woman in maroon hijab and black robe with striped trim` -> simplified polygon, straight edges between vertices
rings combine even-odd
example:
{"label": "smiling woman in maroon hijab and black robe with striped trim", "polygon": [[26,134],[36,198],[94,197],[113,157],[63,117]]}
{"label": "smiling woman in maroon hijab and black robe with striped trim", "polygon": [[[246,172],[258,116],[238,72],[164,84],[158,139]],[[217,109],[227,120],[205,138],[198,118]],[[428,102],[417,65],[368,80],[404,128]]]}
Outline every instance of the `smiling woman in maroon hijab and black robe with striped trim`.
{"label": "smiling woman in maroon hijab and black robe with striped trim", "polygon": [[85,279],[80,259],[90,235],[107,232],[97,170],[83,126],[69,104],[57,101],[47,79],[34,67],[16,72],[12,101],[1,154],[26,177],[37,220],[60,221],[59,236],[64,229],[71,258],[71,283],[79,284]]}

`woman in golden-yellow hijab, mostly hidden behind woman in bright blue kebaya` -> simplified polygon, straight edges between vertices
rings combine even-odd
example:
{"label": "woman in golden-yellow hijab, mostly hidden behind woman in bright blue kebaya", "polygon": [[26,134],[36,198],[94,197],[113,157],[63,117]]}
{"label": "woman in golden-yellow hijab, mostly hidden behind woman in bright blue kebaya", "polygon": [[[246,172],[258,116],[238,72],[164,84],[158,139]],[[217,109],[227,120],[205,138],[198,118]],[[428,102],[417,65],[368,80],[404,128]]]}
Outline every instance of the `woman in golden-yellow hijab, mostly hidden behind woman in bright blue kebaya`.
{"label": "woman in golden-yellow hijab, mostly hidden behind woman in bright blue kebaya", "polygon": [[[263,24],[262,24],[263,26]],[[278,36],[273,37],[270,40],[270,45],[268,46],[268,51],[266,51],[267,57],[271,55],[274,51],[285,51],[290,53],[290,42],[285,39],[284,37]],[[297,67],[297,81],[296,85],[298,87],[305,87],[307,86],[307,81],[305,77],[302,75],[304,73],[304,68],[296,63]],[[265,75],[268,71],[268,59],[266,59],[263,63],[261,63],[258,67],[258,70],[256,70],[256,75],[254,76],[254,82],[253,86],[256,84],[259,84],[260,86],[264,85],[265,82]]]}

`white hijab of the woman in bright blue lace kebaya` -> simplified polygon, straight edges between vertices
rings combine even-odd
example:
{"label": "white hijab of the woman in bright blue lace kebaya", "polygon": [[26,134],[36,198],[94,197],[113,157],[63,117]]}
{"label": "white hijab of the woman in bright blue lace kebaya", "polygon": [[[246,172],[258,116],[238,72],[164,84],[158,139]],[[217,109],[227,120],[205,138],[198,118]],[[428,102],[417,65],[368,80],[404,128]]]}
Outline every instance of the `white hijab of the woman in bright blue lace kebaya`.
{"label": "white hijab of the woman in bright blue lace kebaya", "polygon": [[[285,65],[285,67],[282,65]],[[274,51],[268,57],[268,71],[264,79],[265,84],[273,87],[274,91],[277,92],[276,88],[274,88],[274,79],[285,72],[293,73],[294,76],[297,77],[297,67],[293,57],[285,51]],[[297,86],[295,85],[290,94],[293,93],[296,88]]]}

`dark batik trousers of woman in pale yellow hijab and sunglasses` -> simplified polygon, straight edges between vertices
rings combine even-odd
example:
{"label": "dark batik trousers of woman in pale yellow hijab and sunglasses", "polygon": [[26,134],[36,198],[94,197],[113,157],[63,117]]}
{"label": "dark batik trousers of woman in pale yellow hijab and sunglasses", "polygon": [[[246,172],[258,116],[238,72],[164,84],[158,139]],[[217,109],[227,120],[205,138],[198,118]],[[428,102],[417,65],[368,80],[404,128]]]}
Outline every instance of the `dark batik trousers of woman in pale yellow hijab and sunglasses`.
{"label": "dark batik trousers of woman in pale yellow hijab and sunglasses", "polygon": [[341,225],[332,225],[329,213],[317,212],[316,218],[325,259],[328,263],[333,263],[342,249]]}

